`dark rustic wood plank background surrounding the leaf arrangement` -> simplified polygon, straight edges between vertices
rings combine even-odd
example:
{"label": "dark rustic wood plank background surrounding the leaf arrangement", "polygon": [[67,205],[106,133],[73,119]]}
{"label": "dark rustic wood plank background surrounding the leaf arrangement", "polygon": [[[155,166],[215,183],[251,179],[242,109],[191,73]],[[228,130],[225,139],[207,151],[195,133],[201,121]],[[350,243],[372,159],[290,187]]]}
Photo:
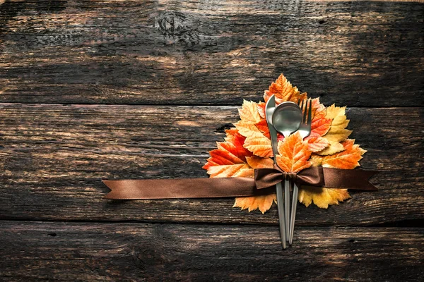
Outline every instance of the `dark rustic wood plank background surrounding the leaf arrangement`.
{"label": "dark rustic wood plank background surrounding the leaf arrangement", "polygon": [[[421,3],[420,3],[421,2]],[[422,1],[0,0],[1,281],[422,281]],[[348,105],[379,192],[298,207],[103,200],[207,177],[242,99],[284,73]]]}

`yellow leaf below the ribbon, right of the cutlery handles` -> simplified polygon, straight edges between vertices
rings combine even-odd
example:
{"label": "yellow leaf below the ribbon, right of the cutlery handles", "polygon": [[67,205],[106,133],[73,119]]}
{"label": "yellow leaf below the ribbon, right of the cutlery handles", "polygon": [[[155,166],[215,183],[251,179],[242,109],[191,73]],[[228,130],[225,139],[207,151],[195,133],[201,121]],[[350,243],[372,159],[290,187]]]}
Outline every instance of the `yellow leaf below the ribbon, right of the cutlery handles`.
{"label": "yellow leaf below the ribbon, right of the cutlery handles", "polygon": [[327,209],[331,204],[338,204],[338,202],[343,202],[346,199],[349,199],[347,189],[331,189],[331,188],[313,188],[302,186],[302,189],[299,190],[298,200],[302,204],[305,204],[306,207],[314,202],[318,207],[322,209]]}

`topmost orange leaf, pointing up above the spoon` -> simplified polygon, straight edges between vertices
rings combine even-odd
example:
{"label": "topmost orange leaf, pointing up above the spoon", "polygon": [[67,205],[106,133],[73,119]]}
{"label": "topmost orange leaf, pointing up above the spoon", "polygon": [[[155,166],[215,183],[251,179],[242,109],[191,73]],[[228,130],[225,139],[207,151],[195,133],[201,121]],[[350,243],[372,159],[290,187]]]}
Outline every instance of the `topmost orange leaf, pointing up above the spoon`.
{"label": "topmost orange leaf, pointing up above the spoon", "polygon": [[280,104],[287,101],[297,103],[298,100],[305,99],[307,94],[306,92],[300,94],[298,87],[293,87],[290,81],[281,74],[275,82],[271,83],[269,89],[264,92],[265,102],[268,102],[272,95],[276,95],[276,104]]}

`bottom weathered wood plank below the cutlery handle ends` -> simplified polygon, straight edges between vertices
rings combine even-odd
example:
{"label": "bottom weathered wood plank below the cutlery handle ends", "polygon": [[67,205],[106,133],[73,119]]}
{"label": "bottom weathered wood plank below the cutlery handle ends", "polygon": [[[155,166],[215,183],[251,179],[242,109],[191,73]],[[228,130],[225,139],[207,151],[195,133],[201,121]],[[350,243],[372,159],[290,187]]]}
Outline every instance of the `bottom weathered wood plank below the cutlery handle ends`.
{"label": "bottom weathered wood plank below the cutlery handle ends", "polygon": [[422,281],[423,228],[0,222],[1,281]]}

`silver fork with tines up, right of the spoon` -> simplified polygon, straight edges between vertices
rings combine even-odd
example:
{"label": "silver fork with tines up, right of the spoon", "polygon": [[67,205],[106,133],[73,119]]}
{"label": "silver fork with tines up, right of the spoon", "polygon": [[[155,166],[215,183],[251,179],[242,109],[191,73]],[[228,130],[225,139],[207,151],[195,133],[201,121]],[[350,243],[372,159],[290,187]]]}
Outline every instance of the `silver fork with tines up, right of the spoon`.
{"label": "silver fork with tines up, right of the spoon", "polygon": [[[298,133],[300,133],[300,137],[302,140],[305,137],[308,137],[311,134],[311,123],[312,123],[312,99],[309,99],[309,107],[308,100],[304,103],[305,100],[302,100],[302,104],[298,101],[298,105],[300,104],[300,109],[303,111],[302,123],[300,123]],[[304,105],[305,104],[305,105]],[[290,233],[288,238],[288,243],[291,245],[293,243],[293,233],[295,232],[295,219],[296,219],[296,208],[298,207],[298,194],[299,188],[293,183],[293,198],[292,198],[292,210],[290,214]]]}

